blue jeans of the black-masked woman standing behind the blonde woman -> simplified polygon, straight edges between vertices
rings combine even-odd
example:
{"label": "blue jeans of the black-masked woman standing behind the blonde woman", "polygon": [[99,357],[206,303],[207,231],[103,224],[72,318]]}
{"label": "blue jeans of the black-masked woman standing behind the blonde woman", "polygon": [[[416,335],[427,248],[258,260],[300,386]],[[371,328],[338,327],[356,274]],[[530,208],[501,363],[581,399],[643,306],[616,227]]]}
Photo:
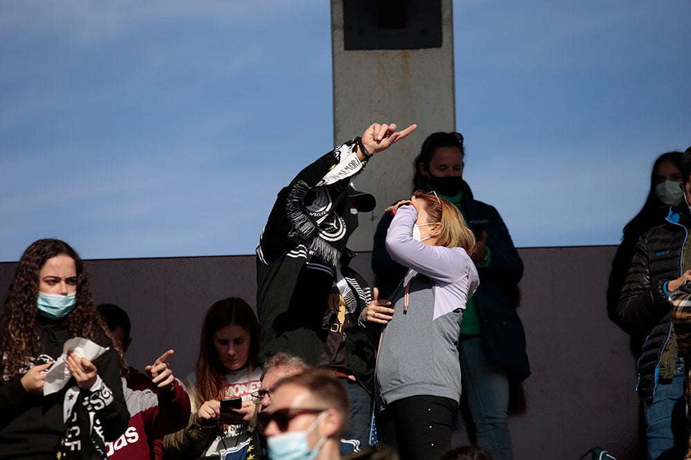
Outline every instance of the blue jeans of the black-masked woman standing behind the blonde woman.
{"label": "blue jeans of the black-masked woman standing behind the blonde woman", "polygon": [[487,362],[480,336],[462,337],[458,347],[463,392],[477,430],[477,444],[496,460],[511,460],[509,379]]}

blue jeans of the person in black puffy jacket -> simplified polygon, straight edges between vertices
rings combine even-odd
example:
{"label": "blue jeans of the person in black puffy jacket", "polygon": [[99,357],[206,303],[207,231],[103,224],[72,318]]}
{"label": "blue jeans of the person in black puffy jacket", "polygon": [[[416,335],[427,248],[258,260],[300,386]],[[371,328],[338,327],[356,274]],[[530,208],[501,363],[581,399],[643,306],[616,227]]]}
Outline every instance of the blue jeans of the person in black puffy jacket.
{"label": "blue jeans of the person in black puffy jacket", "polygon": [[658,383],[645,400],[645,437],[648,459],[682,459],[686,452],[683,361],[677,359],[672,381]]}

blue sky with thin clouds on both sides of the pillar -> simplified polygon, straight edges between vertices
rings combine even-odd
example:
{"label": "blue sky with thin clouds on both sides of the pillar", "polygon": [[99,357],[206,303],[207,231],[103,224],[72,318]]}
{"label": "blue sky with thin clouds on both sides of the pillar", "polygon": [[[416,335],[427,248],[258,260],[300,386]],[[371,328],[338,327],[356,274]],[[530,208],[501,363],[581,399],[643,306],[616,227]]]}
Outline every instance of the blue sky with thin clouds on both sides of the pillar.
{"label": "blue sky with thin clouds on both sides of the pillar", "polygon": [[[691,145],[691,3],[453,7],[476,198],[517,246],[617,243]],[[331,65],[323,0],[0,2],[0,261],[252,254],[332,148]]]}

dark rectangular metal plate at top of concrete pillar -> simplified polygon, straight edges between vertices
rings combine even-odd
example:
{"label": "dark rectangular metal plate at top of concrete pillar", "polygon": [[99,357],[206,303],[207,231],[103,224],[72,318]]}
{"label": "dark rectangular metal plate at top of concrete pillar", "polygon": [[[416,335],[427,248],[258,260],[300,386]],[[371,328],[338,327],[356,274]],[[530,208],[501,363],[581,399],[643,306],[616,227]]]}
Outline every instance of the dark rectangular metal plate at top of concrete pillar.
{"label": "dark rectangular metal plate at top of concrete pillar", "polygon": [[442,46],[442,0],[343,0],[345,50]]}

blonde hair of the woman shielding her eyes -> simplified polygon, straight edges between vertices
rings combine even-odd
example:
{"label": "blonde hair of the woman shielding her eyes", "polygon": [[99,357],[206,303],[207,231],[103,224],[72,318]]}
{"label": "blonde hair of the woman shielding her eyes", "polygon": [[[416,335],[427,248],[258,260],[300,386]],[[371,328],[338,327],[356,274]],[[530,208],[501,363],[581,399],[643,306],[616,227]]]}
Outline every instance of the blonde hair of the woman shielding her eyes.
{"label": "blonde hair of the woman shielding her eyes", "polygon": [[453,206],[451,201],[417,190],[413,195],[417,201],[421,201],[428,214],[430,222],[439,222],[442,229],[439,230],[435,246],[446,248],[463,248],[468,254],[473,254],[475,235],[466,226],[463,214]]}

